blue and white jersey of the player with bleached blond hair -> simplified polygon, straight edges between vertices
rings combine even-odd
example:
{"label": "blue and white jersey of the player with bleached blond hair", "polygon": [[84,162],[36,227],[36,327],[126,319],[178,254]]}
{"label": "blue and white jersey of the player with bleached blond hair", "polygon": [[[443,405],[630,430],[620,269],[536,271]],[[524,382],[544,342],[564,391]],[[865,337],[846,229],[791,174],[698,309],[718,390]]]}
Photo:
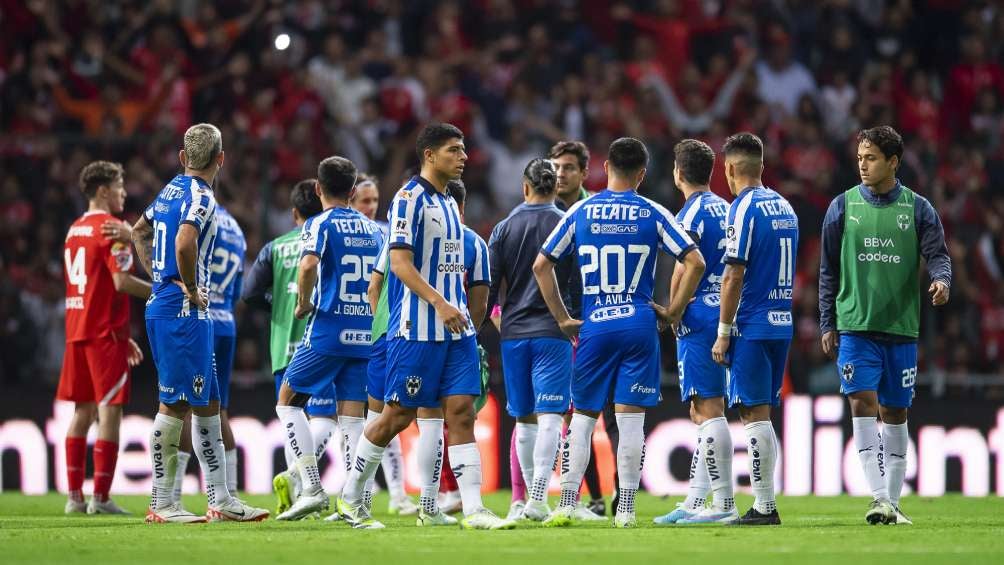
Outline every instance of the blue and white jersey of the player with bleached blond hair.
{"label": "blue and white jersey of the player with bleached blond hair", "polygon": [[[177,318],[192,315],[191,304],[178,283],[178,260],[175,238],[182,224],[191,224],[199,231],[196,257],[196,284],[209,285],[210,264],[216,243],[216,198],[213,189],[199,177],[178,175],[147,207],[144,218],[154,228],[153,269],[154,288],[147,300],[147,317]],[[208,312],[197,311],[199,319]]]}

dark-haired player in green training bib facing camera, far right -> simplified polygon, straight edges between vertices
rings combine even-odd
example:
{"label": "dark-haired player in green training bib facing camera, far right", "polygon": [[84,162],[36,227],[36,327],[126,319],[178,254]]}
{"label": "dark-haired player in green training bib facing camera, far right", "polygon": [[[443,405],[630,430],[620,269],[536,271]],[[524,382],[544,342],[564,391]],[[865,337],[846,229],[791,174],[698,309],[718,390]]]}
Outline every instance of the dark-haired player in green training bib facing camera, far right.
{"label": "dark-haired player in green training bib facing camera, far right", "polygon": [[[907,409],[917,381],[920,260],[931,302],[948,302],[952,261],[931,203],[896,178],[903,138],[888,125],[857,135],[861,184],[837,196],[822,226],[819,329],[836,358],[854,445],[873,498],[869,524],[911,524],[900,510]],[[876,416],[882,416],[882,432]]]}

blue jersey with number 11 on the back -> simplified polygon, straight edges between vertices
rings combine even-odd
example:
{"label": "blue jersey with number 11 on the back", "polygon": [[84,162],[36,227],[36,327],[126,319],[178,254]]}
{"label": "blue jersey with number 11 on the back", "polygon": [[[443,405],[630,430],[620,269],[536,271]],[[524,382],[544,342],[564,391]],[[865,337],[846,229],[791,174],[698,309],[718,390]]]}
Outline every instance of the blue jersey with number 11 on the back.
{"label": "blue jersey with number 11 on the back", "polygon": [[739,332],[750,339],[790,339],[795,211],[771,189],[749,187],[732,202],[726,237],[725,262],[746,265],[736,312]]}

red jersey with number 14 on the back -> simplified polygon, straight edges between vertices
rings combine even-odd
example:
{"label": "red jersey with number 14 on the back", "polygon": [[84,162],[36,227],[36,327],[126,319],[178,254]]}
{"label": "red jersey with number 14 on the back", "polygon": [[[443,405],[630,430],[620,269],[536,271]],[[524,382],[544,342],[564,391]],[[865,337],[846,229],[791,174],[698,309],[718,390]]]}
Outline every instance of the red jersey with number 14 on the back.
{"label": "red jersey with number 14 on the back", "polygon": [[118,221],[87,212],[69,227],[63,245],[66,281],[66,341],[114,334],[129,337],[129,295],[115,290],[111,273],[133,270],[133,248],[101,235],[101,224]]}

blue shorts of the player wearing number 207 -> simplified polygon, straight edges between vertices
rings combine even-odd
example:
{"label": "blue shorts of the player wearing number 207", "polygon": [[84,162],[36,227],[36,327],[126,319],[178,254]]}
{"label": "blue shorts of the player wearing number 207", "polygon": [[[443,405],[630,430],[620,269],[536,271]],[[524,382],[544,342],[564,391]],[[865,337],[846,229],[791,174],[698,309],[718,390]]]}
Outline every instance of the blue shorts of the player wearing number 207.
{"label": "blue shorts of the player wearing number 207", "polygon": [[610,396],[617,404],[655,406],[661,399],[659,333],[606,332],[579,338],[571,401],[599,411]]}

